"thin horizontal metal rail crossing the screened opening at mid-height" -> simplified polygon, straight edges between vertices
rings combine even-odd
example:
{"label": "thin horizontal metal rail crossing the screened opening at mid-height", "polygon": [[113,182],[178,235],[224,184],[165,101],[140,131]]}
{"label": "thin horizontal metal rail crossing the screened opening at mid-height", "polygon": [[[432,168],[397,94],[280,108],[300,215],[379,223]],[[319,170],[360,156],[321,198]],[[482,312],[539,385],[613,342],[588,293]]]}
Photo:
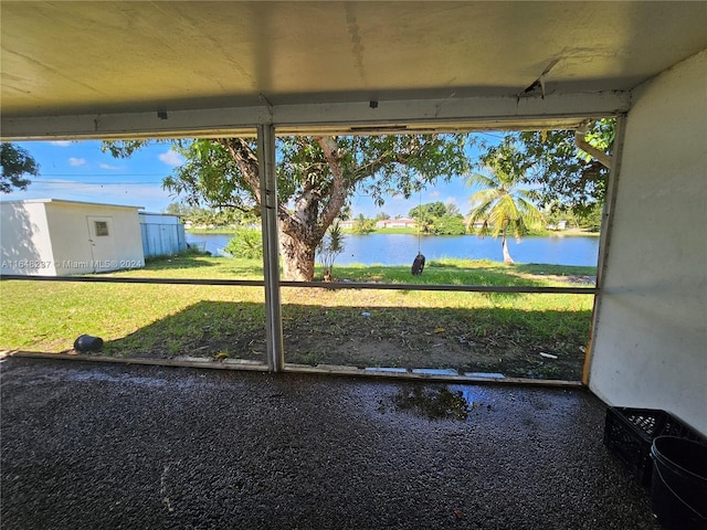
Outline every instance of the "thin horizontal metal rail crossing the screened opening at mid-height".
{"label": "thin horizontal metal rail crossing the screened opening at mid-height", "polygon": [[[261,279],[194,279],[194,278],[120,278],[114,276],[25,276],[0,275],[0,282],[75,282],[98,284],[155,284],[155,285],[226,285],[242,287],[263,287]],[[320,289],[379,289],[379,290],[440,290],[457,293],[518,293],[553,295],[595,295],[594,287],[539,287],[531,285],[456,285],[456,284],[377,284],[362,282],[279,282],[281,287],[315,287]]]}

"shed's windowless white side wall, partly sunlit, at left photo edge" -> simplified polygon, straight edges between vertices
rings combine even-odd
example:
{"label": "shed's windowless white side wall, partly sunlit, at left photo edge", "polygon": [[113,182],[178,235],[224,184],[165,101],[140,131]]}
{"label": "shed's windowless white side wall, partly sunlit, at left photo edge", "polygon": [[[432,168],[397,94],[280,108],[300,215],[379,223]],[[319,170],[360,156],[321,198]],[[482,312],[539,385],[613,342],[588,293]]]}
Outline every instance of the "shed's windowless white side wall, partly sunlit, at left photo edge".
{"label": "shed's windowless white side wall, partly sunlit, at left photo edge", "polygon": [[41,202],[0,203],[1,274],[54,276],[54,255]]}

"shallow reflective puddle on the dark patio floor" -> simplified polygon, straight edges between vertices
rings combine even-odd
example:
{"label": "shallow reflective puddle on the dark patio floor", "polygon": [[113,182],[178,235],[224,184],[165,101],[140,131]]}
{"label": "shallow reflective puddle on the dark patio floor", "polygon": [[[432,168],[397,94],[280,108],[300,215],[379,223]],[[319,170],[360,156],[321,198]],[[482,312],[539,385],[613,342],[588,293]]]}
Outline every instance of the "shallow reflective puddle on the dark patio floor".
{"label": "shallow reflective puddle on the dark patio floor", "polygon": [[[401,386],[391,396],[389,405],[395,411],[410,412],[430,420],[466,421],[475,409],[490,410],[490,404],[482,403],[474,389],[467,388],[428,388]],[[381,402],[379,411],[386,412],[388,406]]]}

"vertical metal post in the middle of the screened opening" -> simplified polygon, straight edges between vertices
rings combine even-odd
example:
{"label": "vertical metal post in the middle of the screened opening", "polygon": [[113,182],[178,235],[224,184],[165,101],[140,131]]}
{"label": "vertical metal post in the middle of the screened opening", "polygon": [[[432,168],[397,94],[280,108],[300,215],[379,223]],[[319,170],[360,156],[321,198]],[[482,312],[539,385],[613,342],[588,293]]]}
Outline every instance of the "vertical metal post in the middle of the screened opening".
{"label": "vertical metal post in the middle of the screened opening", "polygon": [[275,128],[272,125],[257,126],[257,160],[261,180],[261,219],[263,222],[267,368],[272,372],[282,372],[285,368],[285,350],[279,300]]}

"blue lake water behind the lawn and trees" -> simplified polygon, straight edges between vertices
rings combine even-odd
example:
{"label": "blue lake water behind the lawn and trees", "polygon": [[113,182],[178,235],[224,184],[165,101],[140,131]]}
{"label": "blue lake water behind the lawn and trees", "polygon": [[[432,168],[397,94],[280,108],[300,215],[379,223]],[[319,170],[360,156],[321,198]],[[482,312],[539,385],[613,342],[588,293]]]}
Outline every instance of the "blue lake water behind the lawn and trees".
{"label": "blue lake water behind the lawn and trees", "polygon": [[[203,243],[213,255],[221,255],[232,235],[187,234],[188,243]],[[337,265],[410,265],[418,247],[428,262],[443,257],[492,259],[503,262],[500,239],[478,239],[475,235],[434,236],[418,239],[411,234],[347,234],[345,250],[336,258]],[[508,240],[510,256],[516,263],[597,266],[599,237],[561,236]]]}

